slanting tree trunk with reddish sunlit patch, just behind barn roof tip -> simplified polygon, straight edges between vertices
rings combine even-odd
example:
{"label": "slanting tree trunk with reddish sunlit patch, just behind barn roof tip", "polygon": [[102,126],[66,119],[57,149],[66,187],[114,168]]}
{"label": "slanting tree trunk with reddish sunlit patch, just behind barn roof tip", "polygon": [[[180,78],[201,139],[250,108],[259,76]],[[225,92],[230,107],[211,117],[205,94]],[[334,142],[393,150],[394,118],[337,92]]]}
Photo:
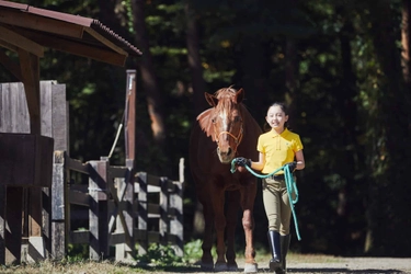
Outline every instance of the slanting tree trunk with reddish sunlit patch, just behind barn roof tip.
{"label": "slanting tree trunk with reddish sunlit patch, just behind barn roof tip", "polygon": [[162,109],[163,103],[147,37],[144,5],[144,0],[132,0],[134,28],[136,31],[135,41],[138,48],[142,52],[142,57],[140,57],[138,61],[138,71],[141,76],[142,88],[147,98],[147,107],[151,119],[152,135],[157,145],[163,147],[167,136],[164,113]]}

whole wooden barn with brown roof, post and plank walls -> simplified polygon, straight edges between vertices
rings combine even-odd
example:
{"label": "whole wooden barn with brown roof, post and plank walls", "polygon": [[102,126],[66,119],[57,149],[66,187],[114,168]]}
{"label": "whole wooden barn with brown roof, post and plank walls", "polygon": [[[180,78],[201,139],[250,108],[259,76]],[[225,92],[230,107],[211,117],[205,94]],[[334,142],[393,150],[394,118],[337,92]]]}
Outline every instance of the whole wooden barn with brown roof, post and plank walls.
{"label": "whole wooden barn with brown roof, post and plank walls", "polygon": [[0,100],[0,263],[20,262],[24,241],[28,258],[44,255],[42,189],[52,185],[54,151],[67,150],[64,129],[42,121],[39,62],[46,48],[114,66],[141,55],[98,20],[0,0],[0,64],[23,83],[30,116],[24,129]]}

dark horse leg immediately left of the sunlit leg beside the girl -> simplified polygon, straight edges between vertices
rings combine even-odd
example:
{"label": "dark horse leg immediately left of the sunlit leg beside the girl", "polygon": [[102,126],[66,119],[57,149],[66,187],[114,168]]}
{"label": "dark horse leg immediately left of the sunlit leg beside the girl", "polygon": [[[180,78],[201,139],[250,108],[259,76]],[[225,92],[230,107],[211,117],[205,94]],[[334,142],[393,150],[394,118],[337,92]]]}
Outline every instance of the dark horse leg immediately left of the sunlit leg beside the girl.
{"label": "dark horse leg immediately left of the sunlit leg beside the girl", "polygon": [[235,236],[238,210],[240,208],[240,193],[238,191],[228,192],[227,199],[227,267],[229,271],[238,271],[238,265],[236,263]]}

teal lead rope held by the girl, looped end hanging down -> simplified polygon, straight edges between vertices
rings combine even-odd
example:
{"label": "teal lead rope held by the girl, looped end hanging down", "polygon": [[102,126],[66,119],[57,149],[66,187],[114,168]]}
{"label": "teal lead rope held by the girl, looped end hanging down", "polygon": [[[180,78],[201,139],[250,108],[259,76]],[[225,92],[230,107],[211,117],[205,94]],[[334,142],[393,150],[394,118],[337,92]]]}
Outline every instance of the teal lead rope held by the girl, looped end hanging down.
{"label": "teal lead rope held by the girl, looped end hanging down", "polygon": [[[256,178],[261,178],[261,179],[269,178],[269,176],[277,173],[278,171],[284,170],[285,185],[287,186],[288,199],[289,199],[289,205],[292,207],[292,213],[293,213],[293,218],[294,218],[294,225],[295,225],[295,229],[296,229],[296,235],[297,235],[297,239],[300,241],[301,237],[299,236],[297,215],[296,215],[296,212],[295,212],[295,208],[294,208],[294,205],[297,204],[297,202],[298,202],[298,189],[297,189],[296,182],[294,181],[293,172],[289,170],[289,167],[287,164],[284,164],[279,169],[274,170],[272,173],[264,174],[264,175],[256,173],[249,165],[246,165],[246,168],[247,168],[248,171],[250,171],[251,174],[253,174]],[[237,170],[236,169],[236,159],[233,159],[231,161],[231,170],[230,171],[231,171],[231,173],[235,173],[236,170]],[[295,192],[295,194],[296,194],[295,199],[292,198],[293,192]]]}

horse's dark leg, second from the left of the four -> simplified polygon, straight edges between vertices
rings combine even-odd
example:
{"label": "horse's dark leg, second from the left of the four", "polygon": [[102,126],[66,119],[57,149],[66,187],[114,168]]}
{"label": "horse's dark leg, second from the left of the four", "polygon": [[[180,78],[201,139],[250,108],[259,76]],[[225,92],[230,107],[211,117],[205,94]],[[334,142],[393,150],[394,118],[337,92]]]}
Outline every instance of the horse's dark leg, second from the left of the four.
{"label": "horse's dark leg, second from the left of the four", "polygon": [[217,236],[217,261],[214,266],[215,271],[226,271],[226,244],[225,244],[225,229],[226,216],[224,214],[225,192],[222,189],[215,190],[213,195],[213,209],[214,209],[214,226]]}

